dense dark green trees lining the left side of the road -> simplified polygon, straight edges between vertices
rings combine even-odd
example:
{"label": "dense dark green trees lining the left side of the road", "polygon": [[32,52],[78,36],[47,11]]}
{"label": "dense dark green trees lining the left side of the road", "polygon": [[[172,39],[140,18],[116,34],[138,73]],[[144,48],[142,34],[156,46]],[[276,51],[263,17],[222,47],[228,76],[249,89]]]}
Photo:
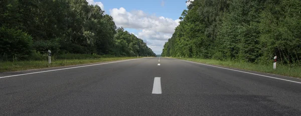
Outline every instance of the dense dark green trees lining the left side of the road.
{"label": "dense dark green trees lining the left side of the road", "polygon": [[0,33],[0,59],[30,59],[48,49],[54,54],[156,55],[86,0],[1,0]]}

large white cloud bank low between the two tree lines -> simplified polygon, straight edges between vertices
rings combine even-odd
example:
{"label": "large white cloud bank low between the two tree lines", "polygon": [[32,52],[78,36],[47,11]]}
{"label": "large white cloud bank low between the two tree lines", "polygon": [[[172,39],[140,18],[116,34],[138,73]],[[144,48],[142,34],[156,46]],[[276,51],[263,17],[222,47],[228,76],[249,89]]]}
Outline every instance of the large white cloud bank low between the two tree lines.
{"label": "large white cloud bank low between the two tree lines", "polygon": [[142,10],[126,11],[125,8],[110,9],[110,15],[118,27],[133,28],[138,30],[134,33],[143,39],[147,46],[157,54],[161,54],[163,45],[180,24],[180,19],[173,20],[164,16],[156,16]]}

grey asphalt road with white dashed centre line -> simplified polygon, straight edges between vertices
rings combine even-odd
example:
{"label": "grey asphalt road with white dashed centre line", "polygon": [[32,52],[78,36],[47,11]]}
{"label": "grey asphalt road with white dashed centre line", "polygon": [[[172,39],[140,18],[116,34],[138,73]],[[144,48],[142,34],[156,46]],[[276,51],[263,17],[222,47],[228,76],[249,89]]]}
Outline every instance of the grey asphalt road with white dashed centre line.
{"label": "grey asphalt road with white dashed centre line", "polygon": [[292,77],[158,57],[47,70],[0,73],[0,115],[301,115]]}

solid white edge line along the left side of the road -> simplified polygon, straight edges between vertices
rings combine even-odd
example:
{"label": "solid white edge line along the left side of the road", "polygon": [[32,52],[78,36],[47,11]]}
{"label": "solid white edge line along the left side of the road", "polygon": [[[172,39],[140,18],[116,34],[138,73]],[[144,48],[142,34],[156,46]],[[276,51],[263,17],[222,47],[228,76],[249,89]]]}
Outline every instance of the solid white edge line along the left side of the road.
{"label": "solid white edge line along the left side of the road", "polygon": [[17,74],[17,75],[8,75],[8,76],[1,76],[0,78],[13,77],[13,76],[19,76],[19,75],[27,75],[27,74],[35,74],[35,73],[43,73],[43,72],[48,72],[48,71],[57,71],[57,70],[64,70],[64,69],[72,69],[72,68],[79,68],[79,67],[87,67],[87,66],[93,66],[93,65],[102,65],[102,64],[116,63],[116,62],[129,61],[129,60],[137,60],[137,59],[142,59],[142,58],[127,59],[127,60],[113,61],[113,62],[106,62],[106,63],[97,63],[97,64],[91,64],[91,65],[83,65],[83,66],[76,66],[76,67],[53,69],[53,70],[38,71],[38,72],[31,72],[31,73],[23,73],[23,74]]}

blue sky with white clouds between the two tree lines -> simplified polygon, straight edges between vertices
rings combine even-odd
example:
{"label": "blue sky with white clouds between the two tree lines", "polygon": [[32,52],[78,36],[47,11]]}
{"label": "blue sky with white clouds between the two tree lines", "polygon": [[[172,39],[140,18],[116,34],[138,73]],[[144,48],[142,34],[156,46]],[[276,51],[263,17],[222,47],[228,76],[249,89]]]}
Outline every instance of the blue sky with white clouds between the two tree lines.
{"label": "blue sky with white clouds between the two tree lines", "polygon": [[179,17],[187,9],[186,0],[86,0],[99,5],[113,17],[117,27],[123,27],[156,54],[161,54],[165,42],[179,25]]}

